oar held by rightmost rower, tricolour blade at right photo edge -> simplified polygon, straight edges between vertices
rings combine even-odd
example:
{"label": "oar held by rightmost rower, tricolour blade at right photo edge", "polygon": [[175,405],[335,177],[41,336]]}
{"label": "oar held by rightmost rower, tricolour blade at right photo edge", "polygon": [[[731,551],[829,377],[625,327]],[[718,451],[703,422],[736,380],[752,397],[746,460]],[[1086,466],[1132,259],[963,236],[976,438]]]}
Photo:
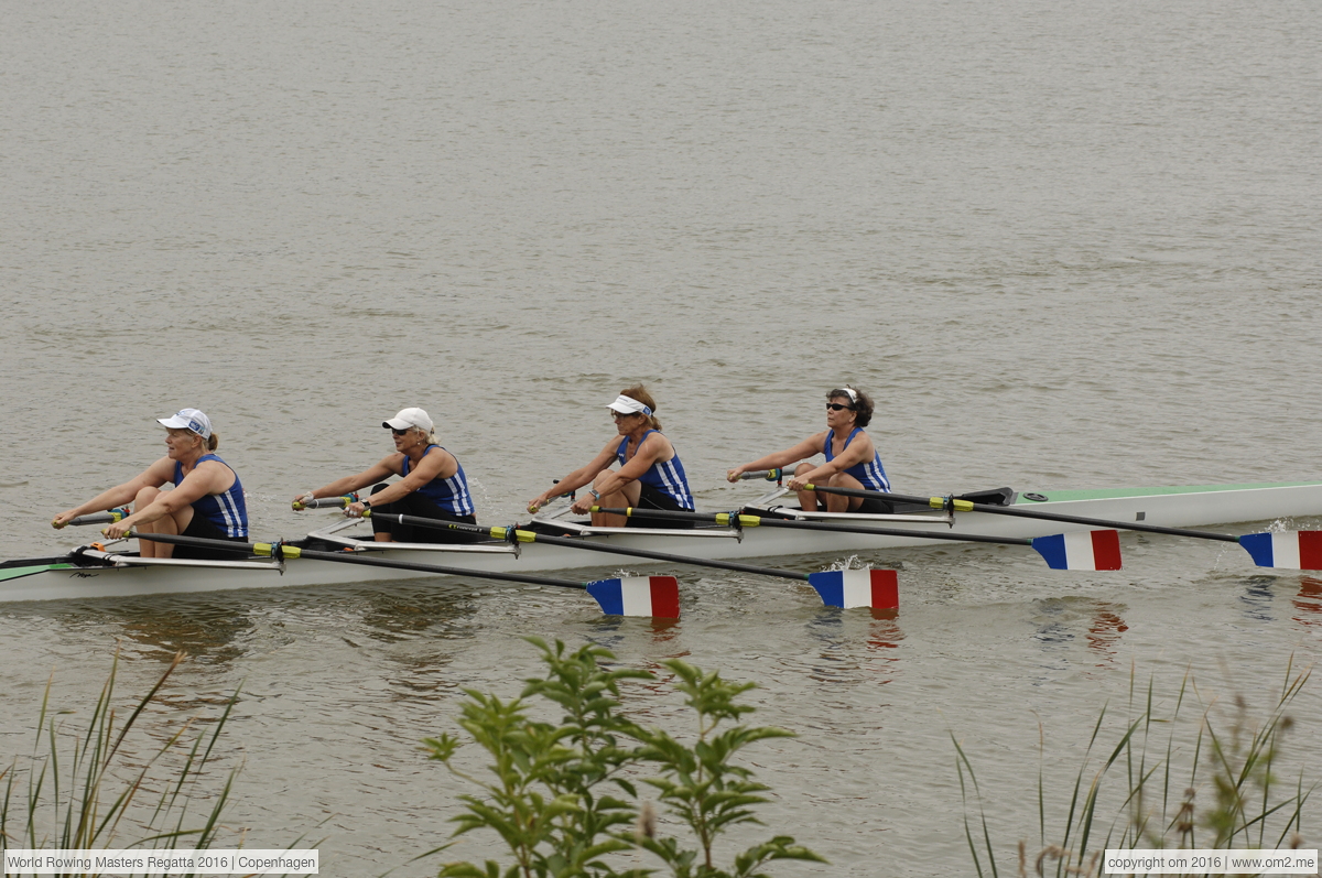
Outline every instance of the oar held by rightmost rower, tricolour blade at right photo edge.
{"label": "oar held by rightmost rower, tricolour blade at right photo edge", "polygon": [[[1163,533],[1171,537],[1191,537],[1194,539],[1216,539],[1218,542],[1237,542],[1244,546],[1259,567],[1277,567],[1280,570],[1322,570],[1322,530],[1286,530],[1282,533],[1249,533],[1241,537],[1224,533],[1211,533],[1207,530],[1187,530],[1185,528],[1162,528],[1161,525],[1142,525],[1136,521],[1107,521],[1103,518],[1085,518],[1083,516],[1066,516],[1059,512],[1038,512],[1035,509],[1018,509],[1014,506],[993,506],[985,502],[970,502],[954,497],[914,497],[908,495],[884,493],[880,491],[861,491],[858,488],[825,488],[822,485],[804,485],[805,491],[821,491],[824,493],[842,495],[845,497],[876,497],[882,500],[899,500],[900,502],[917,502],[933,509],[947,509],[951,512],[986,512],[994,516],[1017,516],[1019,518],[1040,518],[1043,521],[1063,521],[1075,525],[1088,525],[1092,528],[1116,528],[1118,530],[1141,530],[1144,533]],[[1071,536],[1071,534],[1067,534]]]}

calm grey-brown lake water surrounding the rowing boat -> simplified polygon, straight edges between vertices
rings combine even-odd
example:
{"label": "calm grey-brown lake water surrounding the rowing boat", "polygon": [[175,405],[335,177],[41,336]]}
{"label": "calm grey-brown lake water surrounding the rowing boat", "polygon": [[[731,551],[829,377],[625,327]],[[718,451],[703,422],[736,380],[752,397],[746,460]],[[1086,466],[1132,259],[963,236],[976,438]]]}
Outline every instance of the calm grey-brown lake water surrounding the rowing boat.
{"label": "calm grey-brown lake water surrounding the rowing boat", "polygon": [[[898,491],[1322,476],[1319,58],[1322,11],[1289,0],[9,3],[0,557],[78,539],[50,516],[161,454],[182,406],[263,538],[304,533],[288,499],[414,405],[479,518],[513,521],[636,379],[707,508],[846,381]],[[153,722],[242,685],[247,846],[308,833],[321,874],[423,875],[464,789],[418,740],[463,688],[535,673],[521,636],[596,640],[761,684],[755,718],[798,733],[750,752],[768,829],[833,862],[777,874],[972,874],[952,734],[1009,856],[1036,840],[1039,722],[1063,800],[1132,677],[1261,713],[1322,655],[1322,577],[1122,542],[1120,574],[865,555],[903,565],[894,619],[693,570],[673,625],[477,580],[5,604],[0,756],[52,670],[86,711],[116,644],[126,693],[182,649]],[[1293,715],[1307,766],[1317,685]]]}

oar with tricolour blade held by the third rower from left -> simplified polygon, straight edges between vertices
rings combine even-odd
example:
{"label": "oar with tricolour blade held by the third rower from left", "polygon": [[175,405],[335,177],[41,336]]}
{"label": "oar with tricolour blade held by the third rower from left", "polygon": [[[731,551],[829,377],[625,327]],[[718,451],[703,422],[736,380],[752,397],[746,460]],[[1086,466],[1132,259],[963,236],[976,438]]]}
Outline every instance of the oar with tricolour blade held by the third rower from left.
{"label": "oar with tricolour blade held by the third rower from left", "polygon": [[1030,546],[1047,562],[1052,570],[1120,570],[1120,534],[1114,530],[1089,530],[1066,533],[1051,537],[982,537],[965,533],[927,533],[923,530],[900,530],[898,528],[870,528],[863,525],[818,524],[816,521],[789,521],[746,516],[736,512],[669,512],[664,509],[602,509],[592,512],[613,513],[616,516],[644,516],[648,518],[674,518],[685,521],[714,521],[718,525],[736,528],[791,528],[793,530],[822,530],[829,533],[865,533],[874,537],[919,537],[921,539],[951,539],[954,542],[995,542],[1007,546]]}

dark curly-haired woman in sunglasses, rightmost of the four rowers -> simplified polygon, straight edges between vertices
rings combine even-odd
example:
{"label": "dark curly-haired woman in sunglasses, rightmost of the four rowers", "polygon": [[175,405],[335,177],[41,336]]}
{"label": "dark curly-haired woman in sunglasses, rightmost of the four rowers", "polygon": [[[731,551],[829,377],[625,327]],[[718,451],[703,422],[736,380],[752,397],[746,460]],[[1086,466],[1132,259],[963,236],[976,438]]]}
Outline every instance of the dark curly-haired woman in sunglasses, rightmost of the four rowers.
{"label": "dark curly-haired woman in sunglasses, rightmost of the four rowers", "polygon": [[862,390],[845,385],[826,394],[825,431],[808,436],[792,448],[735,467],[726,473],[726,479],[739,481],[739,475],[744,472],[784,467],[804,458],[825,455],[826,463],[820,467],[800,464],[795,468],[795,477],[789,480],[791,491],[798,492],[801,509],[817,512],[820,504],[826,512],[888,513],[892,506],[884,500],[804,491],[804,485],[813,484],[890,493],[891,483],[882,467],[882,456],[873,446],[873,439],[863,432],[863,427],[871,420],[871,398]]}

